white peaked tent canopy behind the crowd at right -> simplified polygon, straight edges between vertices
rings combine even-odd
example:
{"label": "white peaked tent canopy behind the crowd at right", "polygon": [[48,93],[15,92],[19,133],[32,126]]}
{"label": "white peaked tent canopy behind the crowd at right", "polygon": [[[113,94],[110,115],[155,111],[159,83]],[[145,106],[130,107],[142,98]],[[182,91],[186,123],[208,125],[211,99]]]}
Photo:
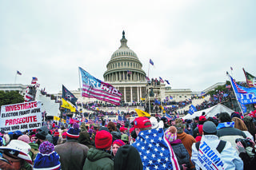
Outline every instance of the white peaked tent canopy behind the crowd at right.
{"label": "white peaked tent canopy behind the crowd at right", "polygon": [[187,114],[185,117],[182,117],[182,119],[183,120],[185,120],[185,119],[194,119],[194,117],[200,117],[203,112],[206,113],[205,116],[206,116],[206,118],[208,118],[208,117],[214,117],[218,113],[222,113],[222,112],[226,112],[226,113],[229,113],[231,115],[231,113],[233,113],[234,110],[229,109],[225,105],[218,104],[218,105],[214,105],[214,106],[212,106],[212,107],[210,107],[208,109],[203,109],[203,110],[194,112],[192,115]]}

